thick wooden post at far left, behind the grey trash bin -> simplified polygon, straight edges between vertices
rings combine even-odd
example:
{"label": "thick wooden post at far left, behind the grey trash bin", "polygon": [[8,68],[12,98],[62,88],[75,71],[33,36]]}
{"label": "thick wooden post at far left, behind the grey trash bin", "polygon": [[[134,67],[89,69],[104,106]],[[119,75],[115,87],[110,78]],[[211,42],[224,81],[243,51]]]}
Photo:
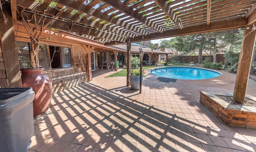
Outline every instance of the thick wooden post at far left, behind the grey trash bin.
{"label": "thick wooden post at far left, behind the grey trash bin", "polygon": [[10,6],[4,4],[2,9],[8,22],[4,21],[4,16],[0,13],[0,34],[1,46],[4,58],[6,78],[8,87],[22,87],[18,52],[14,35],[12,10]]}

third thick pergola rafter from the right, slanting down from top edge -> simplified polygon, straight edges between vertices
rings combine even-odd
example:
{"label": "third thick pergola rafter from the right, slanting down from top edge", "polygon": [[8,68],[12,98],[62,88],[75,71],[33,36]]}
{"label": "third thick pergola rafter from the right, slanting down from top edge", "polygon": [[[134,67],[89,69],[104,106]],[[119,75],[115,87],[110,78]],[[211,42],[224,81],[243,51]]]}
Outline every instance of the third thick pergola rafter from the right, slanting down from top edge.
{"label": "third thick pergola rafter from the right, slanting down from top edge", "polygon": [[122,2],[120,2],[119,0],[102,0],[102,1],[110,6],[113,6],[117,10],[120,10],[120,12],[123,12],[124,14],[131,16],[135,20],[138,20],[139,22],[142,22],[143,24],[150,26],[154,30],[161,32],[161,30],[158,28],[158,26],[156,26],[156,24],[154,24],[153,22],[151,22],[150,20],[142,16],[142,14],[139,14],[138,12],[134,11],[131,7],[122,4]]}

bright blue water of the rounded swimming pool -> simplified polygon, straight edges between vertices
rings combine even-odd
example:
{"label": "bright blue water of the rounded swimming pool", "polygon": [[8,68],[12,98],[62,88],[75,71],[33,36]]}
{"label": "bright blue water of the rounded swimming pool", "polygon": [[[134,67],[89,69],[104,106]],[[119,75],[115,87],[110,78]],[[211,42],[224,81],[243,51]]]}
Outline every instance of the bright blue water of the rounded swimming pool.
{"label": "bright blue water of the rounded swimming pool", "polygon": [[218,77],[220,72],[196,67],[164,67],[152,69],[151,74],[159,77],[186,80],[201,80]]}

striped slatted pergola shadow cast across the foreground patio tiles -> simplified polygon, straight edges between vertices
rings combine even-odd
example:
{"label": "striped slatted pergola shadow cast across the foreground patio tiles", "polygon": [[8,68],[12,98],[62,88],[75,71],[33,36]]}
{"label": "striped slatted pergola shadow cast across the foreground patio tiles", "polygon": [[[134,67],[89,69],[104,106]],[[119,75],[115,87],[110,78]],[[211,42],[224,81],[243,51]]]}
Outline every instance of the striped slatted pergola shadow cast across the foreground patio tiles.
{"label": "striped slatted pergola shadow cast across the foreground patio tiles", "polygon": [[[190,114],[185,116],[178,111],[178,105],[142,103],[134,99],[139,95],[129,95],[126,90],[128,87],[105,89],[86,83],[55,94],[51,111],[35,122],[32,141],[41,144],[32,142],[30,150],[163,152],[218,150],[217,146],[234,150],[256,148],[254,142],[242,138],[248,136],[256,141],[255,136],[249,136],[250,130],[237,134],[202,106],[196,105],[191,112],[203,114],[209,123]],[[225,128],[233,132],[228,133]]]}

